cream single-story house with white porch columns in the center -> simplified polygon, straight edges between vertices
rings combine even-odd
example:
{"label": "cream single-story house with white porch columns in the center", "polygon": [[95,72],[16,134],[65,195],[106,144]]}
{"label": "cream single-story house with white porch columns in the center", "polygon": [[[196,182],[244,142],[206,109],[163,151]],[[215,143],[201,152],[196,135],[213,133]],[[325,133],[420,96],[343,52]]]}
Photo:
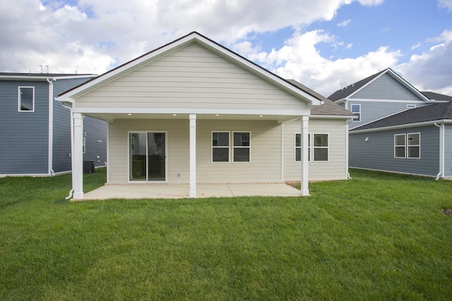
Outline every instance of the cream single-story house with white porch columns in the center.
{"label": "cream single-story house with white porch columns in the center", "polygon": [[73,199],[83,116],[108,122],[107,184],[347,178],[352,113],[191,32],[61,94],[73,112]]}

